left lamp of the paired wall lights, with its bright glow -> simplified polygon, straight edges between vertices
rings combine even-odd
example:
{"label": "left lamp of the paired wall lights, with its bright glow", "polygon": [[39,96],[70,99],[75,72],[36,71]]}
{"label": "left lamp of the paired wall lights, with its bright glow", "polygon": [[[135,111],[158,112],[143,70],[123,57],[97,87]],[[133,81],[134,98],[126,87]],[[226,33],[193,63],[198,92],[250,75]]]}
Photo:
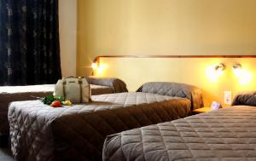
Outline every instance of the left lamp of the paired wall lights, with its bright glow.
{"label": "left lamp of the paired wall lights, with its bright glow", "polygon": [[218,78],[223,74],[225,66],[223,63],[218,64],[217,66],[208,66],[206,70],[207,78],[210,82],[216,82]]}

